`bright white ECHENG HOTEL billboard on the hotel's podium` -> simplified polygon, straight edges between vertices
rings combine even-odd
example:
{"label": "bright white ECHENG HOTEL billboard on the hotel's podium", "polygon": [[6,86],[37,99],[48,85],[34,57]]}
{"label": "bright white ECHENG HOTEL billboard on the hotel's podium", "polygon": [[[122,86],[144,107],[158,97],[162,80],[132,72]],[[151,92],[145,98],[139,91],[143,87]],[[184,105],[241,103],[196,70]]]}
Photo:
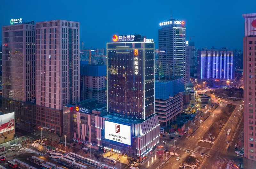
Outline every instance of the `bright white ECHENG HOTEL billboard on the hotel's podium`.
{"label": "bright white ECHENG HOTEL billboard on the hotel's podium", "polygon": [[131,145],[131,126],[105,120],[105,138]]}

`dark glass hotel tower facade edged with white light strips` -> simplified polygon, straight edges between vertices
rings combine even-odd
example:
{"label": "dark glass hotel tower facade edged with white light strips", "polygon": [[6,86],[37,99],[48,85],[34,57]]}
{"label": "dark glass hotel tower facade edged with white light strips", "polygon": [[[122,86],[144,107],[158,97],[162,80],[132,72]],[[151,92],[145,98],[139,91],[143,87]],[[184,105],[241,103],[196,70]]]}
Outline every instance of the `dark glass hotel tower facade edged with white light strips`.
{"label": "dark glass hotel tower facade edged with white light strips", "polygon": [[154,43],[107,44],[108,113],[145,120],[154,114]]}

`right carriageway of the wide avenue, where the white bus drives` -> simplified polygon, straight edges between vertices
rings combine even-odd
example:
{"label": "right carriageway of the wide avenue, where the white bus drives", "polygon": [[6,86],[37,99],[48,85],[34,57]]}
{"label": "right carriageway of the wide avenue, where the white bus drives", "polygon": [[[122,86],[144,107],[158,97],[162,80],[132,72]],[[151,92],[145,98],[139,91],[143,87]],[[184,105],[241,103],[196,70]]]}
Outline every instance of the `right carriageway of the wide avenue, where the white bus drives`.
{"label": "right carriageway of the wide avenue, where the white bus drives", "polygon": [[[230,151],[227,151],[226,147],[227,147],[227,131],[228,129],[231,129],[232,131],[232,135],[234,134],[234,131],[237,129],[237,125],[238,125],[238,121],[239,121],[239,117],[241,117],[241,111],[242,108],[237,106],[236,109],[234,110],[234,112],[232,113],[232,115],[230,116],[228,122],[226,123],[226,125],[223,127],[223,129],[221,130],[217,140],[214,142],[214,144],[212,145],[212,151],[210,152],[212,157],[206,157],[204,159],[204,162],[202,163],[202,165],[200,166],[201,169],[208,169],[211,168],[211,165],[217,165],[217,161],[218,161],[218,151],[219,151],[219,163],[220,165],[222,165],[225,161],[231,160],[231,162],[233,163],[234,161],[238,161],[238,162],[242,162],[243,158],[242,157],[237,157],[236,154],[234,153],[234,144],[235,142],[237,142],[237,138],[235,137],[233,140],[233,144],[231,144],[230,146]],[[240,119],[242,120],[242,119]]]}

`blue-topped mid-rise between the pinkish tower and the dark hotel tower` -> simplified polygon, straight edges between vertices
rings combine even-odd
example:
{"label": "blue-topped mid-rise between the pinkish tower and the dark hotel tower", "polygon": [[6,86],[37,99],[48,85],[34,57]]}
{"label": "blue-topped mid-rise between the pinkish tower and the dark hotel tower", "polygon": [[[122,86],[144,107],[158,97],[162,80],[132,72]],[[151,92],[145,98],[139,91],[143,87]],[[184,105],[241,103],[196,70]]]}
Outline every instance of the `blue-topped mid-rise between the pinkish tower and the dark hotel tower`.
{"label": "blue-topped mid-rise between the pinkish tower and the dark hotel tower", "polygon": [[97,99],[106,103],[106,65],[88,65],[80,61],[80,100]]}

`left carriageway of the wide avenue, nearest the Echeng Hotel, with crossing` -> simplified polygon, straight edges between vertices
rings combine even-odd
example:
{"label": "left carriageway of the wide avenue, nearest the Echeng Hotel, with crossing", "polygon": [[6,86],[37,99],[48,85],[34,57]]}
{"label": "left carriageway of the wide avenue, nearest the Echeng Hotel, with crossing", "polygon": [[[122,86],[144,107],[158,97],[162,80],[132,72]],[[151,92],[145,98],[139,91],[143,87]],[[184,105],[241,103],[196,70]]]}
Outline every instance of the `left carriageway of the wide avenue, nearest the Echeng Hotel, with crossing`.
{"label": "left carriageway of the wide avenue, nearest the Echeng Hotel, with crossing", "polygon": [[[221,110],[224,106],[219,106],[217,109],[213,111],[214,115],[210,115],[204,123],[200,125],[200,127],[189,137],[184,138],[182,137],[181,140],[176,139],[175,146],[178,148],[176,153],[180,154],[180,161],[176,161],[176,157],[173,156],[163,167],[164,169],[176,169],[179,167],[180,163],[184,161],[184,159],[188,156],[188,152],[186,152],[187,149],[190,149],[190,152],[199,154],[200,152],[205,152],[206,156],[212,157],[211,154],[209,154],[209,149],[197,146],[200,139],[203,137],[204,133],[209,129],[210,125],[212,124],[215,119],[220,115]],[[172,144],[174,141],[168,142],[167,144],[172,148],[174,145]]]}

